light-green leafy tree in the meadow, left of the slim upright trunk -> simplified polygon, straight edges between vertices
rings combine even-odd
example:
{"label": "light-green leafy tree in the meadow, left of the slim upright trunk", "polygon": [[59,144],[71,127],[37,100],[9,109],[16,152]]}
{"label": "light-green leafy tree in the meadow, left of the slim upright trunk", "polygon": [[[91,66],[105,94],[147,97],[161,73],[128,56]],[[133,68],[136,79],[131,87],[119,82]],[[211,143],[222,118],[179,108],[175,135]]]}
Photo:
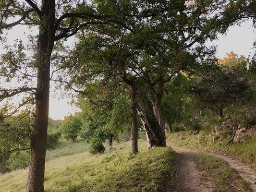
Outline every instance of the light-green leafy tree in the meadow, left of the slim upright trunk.
{"label": "light-green leafy tree in the meadow, left of the slim upright trunk", "polygon": [[88,142],[98,138],[101,141],[108,140],[112,146],[118,133],[127,132],[131,125],[131,119],[127,118],[130,114],[127,96],[119,95],[100,106],[82,96],[78,105],[84,122],[80,135]]}

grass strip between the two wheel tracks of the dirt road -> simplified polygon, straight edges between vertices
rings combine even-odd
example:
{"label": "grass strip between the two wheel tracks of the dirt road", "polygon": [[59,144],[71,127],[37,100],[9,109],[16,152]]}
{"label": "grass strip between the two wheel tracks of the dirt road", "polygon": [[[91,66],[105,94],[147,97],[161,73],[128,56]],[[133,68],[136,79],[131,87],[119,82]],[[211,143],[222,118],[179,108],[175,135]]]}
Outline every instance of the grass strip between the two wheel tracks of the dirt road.
{"label": "grass strip between the two wheel tracks of the dirt road", "polygon": [[216,185],[214,192],[253,192],[222,159],[201,153],[195,154],[195,159],[205,176],[213,178]]}

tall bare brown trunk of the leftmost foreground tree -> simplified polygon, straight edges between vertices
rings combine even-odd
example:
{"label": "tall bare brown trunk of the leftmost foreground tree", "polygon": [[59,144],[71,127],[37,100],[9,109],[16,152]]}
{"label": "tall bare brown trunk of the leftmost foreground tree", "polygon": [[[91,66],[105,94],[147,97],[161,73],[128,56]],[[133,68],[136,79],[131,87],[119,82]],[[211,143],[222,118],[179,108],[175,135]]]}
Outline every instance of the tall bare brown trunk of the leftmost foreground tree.
{"label": "tall bare brown trunk of the leftmost foreground tree", "polygon": [[54,42],[54,0],[42,0],[44,13],[37,42],[37,91],[35,125],[31,139],[31,157],[26,192],[44,192],[45,154],[49,116],[50,57]]}

